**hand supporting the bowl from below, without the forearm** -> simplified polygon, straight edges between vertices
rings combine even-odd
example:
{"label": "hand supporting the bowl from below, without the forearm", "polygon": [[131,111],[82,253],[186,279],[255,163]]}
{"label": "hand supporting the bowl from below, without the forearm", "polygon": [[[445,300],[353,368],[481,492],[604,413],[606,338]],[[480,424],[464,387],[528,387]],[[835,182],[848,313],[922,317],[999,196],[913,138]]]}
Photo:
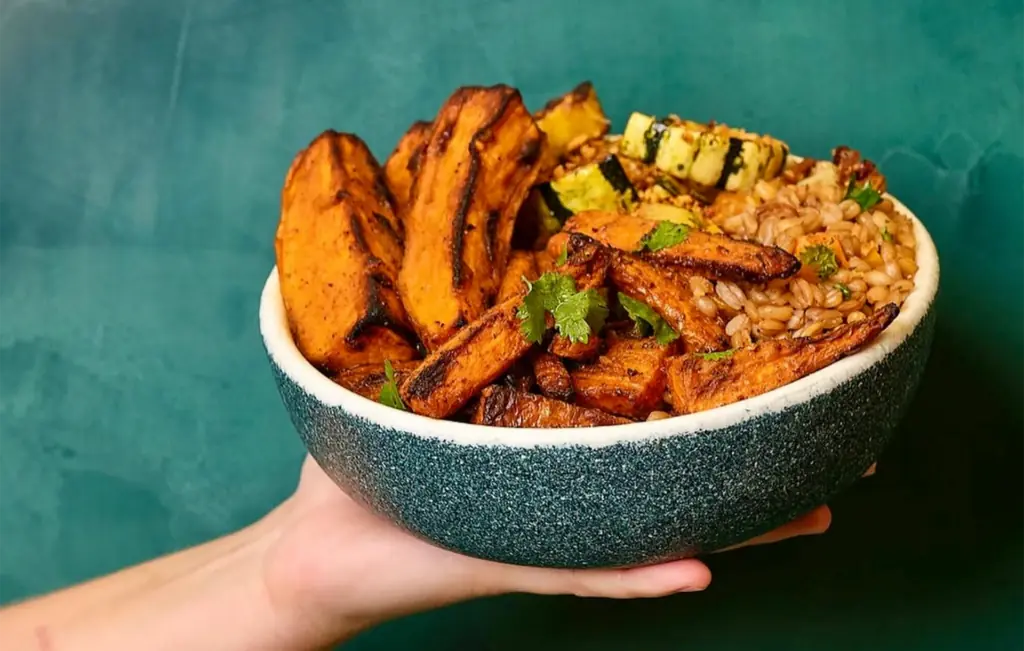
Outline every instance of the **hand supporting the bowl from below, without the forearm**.
{"label": "hand supporting the bowl from below, without the forearm", "polygon": [[[745,545],[828,528],[827,507]],[[303,464],[295,494],[268,516],[278,531],[266,581],[286,619],[325,644],[393,617],[505,593],[581,597],[662,597],[703,590],[696,559],[633,569],[547,569],[462,556],[425,542],[365,510],[314,461]],[[742,546],[739,546],[742,547]]]}

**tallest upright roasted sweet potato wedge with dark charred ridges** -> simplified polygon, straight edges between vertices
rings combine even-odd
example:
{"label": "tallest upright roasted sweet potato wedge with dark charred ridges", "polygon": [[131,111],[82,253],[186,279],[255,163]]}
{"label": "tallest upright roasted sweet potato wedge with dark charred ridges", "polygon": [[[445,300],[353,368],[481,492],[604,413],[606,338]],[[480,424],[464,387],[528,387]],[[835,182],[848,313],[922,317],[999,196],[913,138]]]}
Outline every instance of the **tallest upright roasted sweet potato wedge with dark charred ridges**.
{"label": "tallest upright roasted sweet potato wedge with dark charred ridges", "polygon": [[433,124],[404,216],[398,275],[402,302],[428,350],[480,316],[498,294],[544,140],[519,92],[508,86],[460,88]]}

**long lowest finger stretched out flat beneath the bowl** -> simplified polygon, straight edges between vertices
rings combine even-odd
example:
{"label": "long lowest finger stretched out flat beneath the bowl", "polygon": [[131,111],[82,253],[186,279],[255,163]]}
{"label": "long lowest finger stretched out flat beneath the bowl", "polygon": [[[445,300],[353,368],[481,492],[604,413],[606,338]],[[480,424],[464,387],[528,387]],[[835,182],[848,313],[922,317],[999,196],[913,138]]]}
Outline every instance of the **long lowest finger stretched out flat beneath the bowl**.
{"label": "long lowest finger stretched out flat beneath the bowl", "polygon": [[499,592],[637,599],[698,592],[711,583],[711,570],[696,559],[630,569],[503,567]]}

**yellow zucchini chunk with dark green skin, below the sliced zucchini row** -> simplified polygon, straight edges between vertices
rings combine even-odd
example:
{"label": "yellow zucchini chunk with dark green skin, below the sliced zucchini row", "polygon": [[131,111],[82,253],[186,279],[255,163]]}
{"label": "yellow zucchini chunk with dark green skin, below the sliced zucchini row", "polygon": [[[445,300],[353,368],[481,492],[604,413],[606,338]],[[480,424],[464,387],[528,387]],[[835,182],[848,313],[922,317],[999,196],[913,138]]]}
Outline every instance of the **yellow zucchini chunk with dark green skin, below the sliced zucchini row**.
{"label": "yellow zucchini chunk with dark green skin, below the sliced zucchini row", "polygon": [[542,183],[537,191],[542,219],[554,219],[559,224],[584,210],[617,211],[637,203],[636,188],[614,155]]}

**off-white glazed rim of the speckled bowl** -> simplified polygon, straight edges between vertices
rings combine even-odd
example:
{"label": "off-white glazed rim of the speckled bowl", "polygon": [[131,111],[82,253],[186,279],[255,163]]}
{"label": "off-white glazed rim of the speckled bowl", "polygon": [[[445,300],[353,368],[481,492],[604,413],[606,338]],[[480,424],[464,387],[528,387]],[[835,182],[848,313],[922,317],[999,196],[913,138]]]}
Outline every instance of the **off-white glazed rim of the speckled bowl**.
{"label": "off-white glazed rim of the speckled bowl", "polygon": [[918,242],[918,273],[914,289],[906,297],[899,315],[868,346],[791,384],[745,400],[706,411],[676,416],[660,421],[593,428],[507,428],[442,421],[394,409],[365,398],[334,383],[299,352],[292,338],[281,297],[276,266],[270,271],[260,297],[260,332],[267,352],[282,372],[323,404],[394,430],[422,438],[462,445],[504,445],[536,447],[582,445],[603,447],[674,436],[710,433],[755,417],[787,409],[827,393],[884,359],[902,344],[921,321],[935,299],[939,286],[939,259],[928,229],[906,206],[886,194],[896,209],[913,223]]}

